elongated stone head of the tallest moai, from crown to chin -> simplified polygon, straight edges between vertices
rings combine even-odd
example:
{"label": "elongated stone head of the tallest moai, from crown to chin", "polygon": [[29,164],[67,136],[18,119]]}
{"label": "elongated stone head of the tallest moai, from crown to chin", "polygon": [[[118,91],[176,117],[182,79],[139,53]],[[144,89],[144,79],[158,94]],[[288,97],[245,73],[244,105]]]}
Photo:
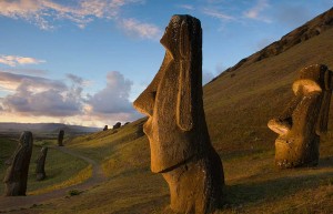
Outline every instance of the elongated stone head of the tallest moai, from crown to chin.
{"label": "elongated stone head of the tallest moai, from crown to chin", "polygon": [[202,108],[202,32],[200,21],[173,16],[161,43],[162,65],[134,101],[149,116],[143,126],[151,149],[152,172],[165,172],[185,162],[209,141]]}

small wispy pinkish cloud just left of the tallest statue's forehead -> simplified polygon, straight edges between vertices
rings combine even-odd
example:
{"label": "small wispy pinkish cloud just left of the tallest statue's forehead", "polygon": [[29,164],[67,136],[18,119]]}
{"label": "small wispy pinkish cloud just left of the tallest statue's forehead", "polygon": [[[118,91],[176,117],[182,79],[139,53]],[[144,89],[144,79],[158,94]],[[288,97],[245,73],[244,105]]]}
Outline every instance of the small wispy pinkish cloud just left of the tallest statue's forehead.
{"label": "small wispy pinkish cloud just left of the tallest statue's forehead", "polygon": [[151,23],[143,23],[137,19],[123,19],[119,24],[128,34],[140,37],[141,39],[159,39],[162,31]]}

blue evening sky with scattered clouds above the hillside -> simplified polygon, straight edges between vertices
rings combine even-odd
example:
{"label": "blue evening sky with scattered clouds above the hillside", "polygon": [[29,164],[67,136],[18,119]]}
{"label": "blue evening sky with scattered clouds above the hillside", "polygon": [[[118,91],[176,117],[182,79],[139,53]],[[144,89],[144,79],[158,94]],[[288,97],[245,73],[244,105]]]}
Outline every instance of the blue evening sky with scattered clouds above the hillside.
{"label": "blue evening sky with scattered clouds above the hillside", "polygon": [[113,125],[159,71],[173,14],[203,30],[203,84],[333,0],[0,0],[0,122]]}

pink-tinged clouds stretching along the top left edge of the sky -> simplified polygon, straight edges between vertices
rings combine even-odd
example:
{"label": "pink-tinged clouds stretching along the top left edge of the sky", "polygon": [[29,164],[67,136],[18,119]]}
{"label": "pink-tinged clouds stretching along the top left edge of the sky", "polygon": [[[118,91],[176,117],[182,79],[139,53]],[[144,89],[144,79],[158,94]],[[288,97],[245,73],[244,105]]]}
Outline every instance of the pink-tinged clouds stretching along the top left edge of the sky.
{"label": "pink-tinged clouds stretching along the top left edge of the sky", "polygon": [[142,0],[81,0],[72,6],[54,0],[2,0],[0,16],[23,19],[43,30],[52,29],[50,22],[53,20],[70,20],[84,28],[95,18],[117,18],[123,6],[135,2]]}

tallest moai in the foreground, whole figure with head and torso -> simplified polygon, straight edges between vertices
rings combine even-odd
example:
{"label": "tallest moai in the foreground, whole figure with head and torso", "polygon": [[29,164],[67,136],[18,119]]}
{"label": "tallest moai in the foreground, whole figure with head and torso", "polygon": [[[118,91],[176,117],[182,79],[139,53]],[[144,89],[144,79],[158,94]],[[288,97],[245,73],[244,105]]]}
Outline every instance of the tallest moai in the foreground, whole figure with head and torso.
{"label": "tallest moai in the foreground, whole figure with head and torso", "polygon": [[169,184],[170,207],[178,213],[211,213],[222,202],[224,174],[211,145],[202,101],[200,20],[173,16],[161,39],[162,65],[134,101],[149,116],[151,171]]}

